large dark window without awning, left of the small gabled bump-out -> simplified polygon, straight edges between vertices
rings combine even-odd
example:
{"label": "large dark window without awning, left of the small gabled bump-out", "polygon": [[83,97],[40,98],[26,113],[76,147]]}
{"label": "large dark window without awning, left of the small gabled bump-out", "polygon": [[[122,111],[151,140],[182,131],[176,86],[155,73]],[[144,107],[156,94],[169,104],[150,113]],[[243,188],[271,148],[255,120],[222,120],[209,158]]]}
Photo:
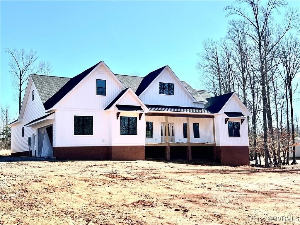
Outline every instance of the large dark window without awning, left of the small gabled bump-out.
{"label": "large dark window without awning, left of the small gabled bump-out", "polygon": [[93,117],[74,116],[74,135],[93,135]]}

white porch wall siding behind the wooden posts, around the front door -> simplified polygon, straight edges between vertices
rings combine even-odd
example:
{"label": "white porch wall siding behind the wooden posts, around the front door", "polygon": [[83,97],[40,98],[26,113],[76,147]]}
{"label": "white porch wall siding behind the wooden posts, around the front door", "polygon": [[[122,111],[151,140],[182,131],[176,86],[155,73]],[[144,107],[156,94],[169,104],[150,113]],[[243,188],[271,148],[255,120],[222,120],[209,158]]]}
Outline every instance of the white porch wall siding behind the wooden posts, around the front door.
{"label": "white porch wall siding behind the wooden posts, around the front door", "polygon": [[[161,123],[166,122],[164,116],[145,116],[146,122],[153,122],[153,138],[146,138],[146,143],[161,143]],[[183,123],[187,120],[185,117],[168,117],[169,123],[174,123],[175,142],[187,142],[183,138]],[[194,138],[193,123],[199,123],[199,138]],[[171,133],[171,129],[170,129]],[[145,136],[146,137],[146,136]],[[170,141],[170,140],[169,140]],[[190,142],[192,143],[213,143],[213,122],[207,118],[190,118]]]}

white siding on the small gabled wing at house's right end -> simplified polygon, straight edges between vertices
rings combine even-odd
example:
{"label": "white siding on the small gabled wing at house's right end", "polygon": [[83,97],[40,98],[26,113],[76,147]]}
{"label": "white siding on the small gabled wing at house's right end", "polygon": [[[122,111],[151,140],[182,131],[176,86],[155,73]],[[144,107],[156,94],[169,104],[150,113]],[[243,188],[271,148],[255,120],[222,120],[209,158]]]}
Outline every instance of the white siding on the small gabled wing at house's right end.
{"label": "white siding on the small gabled wing at house's right end", "polygon": [[225,107],[220,111],[219,115],[215,115],[215,130],[216,130],[216,145],[217,146],[248,146],[248,120],[247,117],[241,124],[240,118],[229,118],[229,122],[240,122],[240,136],[241,137],[229,137],[228,134],[228,122],[225,124],[225,118],[228,118],[224,112],[240,112],[247,115],[248,112],[244,110],[244,106],[240,104],[236,96],[233,96]]}

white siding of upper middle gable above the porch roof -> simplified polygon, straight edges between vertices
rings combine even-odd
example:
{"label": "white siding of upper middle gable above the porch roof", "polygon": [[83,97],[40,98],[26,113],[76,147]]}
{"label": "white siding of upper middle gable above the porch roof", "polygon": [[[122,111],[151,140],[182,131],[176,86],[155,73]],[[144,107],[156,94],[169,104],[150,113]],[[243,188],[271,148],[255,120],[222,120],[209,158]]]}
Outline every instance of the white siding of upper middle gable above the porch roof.
{"label": "white siding of upper middle gable above the porch roof", "polygon": [[[159,94],[159,82],[173,83],[174,95]],[[139,97],[144,104],[149,105],[203,107],[203,103],[193,103],[195,100],[188,94],[182,83],[179,83],[173,74],[171,74],[168,68]]]}

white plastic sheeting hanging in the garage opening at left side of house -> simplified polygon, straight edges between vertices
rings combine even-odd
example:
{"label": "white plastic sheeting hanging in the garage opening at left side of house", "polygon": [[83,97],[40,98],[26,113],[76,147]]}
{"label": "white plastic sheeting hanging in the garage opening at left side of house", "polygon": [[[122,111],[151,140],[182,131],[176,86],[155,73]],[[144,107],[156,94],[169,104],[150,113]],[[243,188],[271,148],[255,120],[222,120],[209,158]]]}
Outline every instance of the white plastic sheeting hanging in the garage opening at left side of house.
{"label": "white plastic sheeting hanging in the garage opening at left side of house", "polygon": [[48,157],[52,155],[52,143],[49,139],[48,132],[46,128],[51,127],[49,125],[47,127],[38,129],[38,156],[39,157]]}

